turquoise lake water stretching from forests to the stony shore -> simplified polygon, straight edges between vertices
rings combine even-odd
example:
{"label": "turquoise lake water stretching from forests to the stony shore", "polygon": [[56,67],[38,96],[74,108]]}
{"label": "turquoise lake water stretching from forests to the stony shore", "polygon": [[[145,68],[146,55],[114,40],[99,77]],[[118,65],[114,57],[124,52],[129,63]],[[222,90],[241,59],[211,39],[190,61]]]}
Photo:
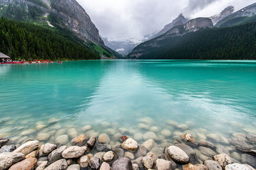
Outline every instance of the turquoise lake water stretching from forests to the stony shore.
{"label": "turquoise lake water stretching from forests to the stony shore", "polygon": [[[234,133],[256,133],[255,99],[256,61],[1,65],[0,137],[18,140],[29,130],[23,139],[49,132],[47,141],[54,141],[65,133],[57,134],[60,129],[75,128],[81,134],[82,127],[91,125],[88,133],[94,135],[108,130],[129,136],[156,126],[159,143],[188,131],[198,140],[202,138],[198,133],[230,138]],[[148,121],[141,120],[145,117]],[[173,121],[188,129],[176,127]],[[138,127],[141,122],[149,127]],[[172,135],[164,136],[163,129]]]}

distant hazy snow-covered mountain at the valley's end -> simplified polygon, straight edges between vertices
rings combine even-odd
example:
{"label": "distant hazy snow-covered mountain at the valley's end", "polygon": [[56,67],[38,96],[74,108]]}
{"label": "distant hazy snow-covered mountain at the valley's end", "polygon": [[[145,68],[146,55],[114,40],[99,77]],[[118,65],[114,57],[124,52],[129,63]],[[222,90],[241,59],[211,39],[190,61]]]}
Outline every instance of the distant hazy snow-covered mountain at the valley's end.
{"label": "distant hazy snow-covered mountain at the valley's end", "polygon": [[115,52],[120,53],[125,56],[128,53],[132,52],[133,48],[135,48],[140,43],[132,41],[131,39],[127,39],[124,41],[111,41],[108,38],[102,38],[105,45],[114,50]]}

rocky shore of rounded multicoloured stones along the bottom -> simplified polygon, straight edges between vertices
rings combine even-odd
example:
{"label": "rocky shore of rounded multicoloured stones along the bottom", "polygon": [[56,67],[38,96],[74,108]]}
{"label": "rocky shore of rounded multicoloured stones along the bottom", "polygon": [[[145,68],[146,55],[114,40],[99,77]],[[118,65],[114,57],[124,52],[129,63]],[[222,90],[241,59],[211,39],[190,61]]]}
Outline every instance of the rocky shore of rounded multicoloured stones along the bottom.
{"label": "rocky shore of rounded multicoloured stones along the bottom", "polygon": [[[162,134],[168,133],[162,131]],[[10,139],[1,139],[0,169],[253,170],[256,166],[256,136],[253,134],[227,139],[229,150],[206,139],[197,141],[191,134],[182,134],[173,143],[166,141],[161,145],[154,132],[148,132],[147,136],[143,143],[129,136],[119,136],[119,141],[113,143],[106,133],[98,137],[81,134],[68,145],[61,145],[66,140],[65,135],[56,138],[59,143],[29,139],[17,145]]]}

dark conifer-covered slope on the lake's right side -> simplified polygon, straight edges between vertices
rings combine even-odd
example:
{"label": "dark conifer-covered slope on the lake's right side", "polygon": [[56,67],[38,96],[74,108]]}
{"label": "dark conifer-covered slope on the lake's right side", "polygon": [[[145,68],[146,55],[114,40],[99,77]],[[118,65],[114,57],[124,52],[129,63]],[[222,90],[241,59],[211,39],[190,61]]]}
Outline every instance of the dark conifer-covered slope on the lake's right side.
{"label": "dark conifer-covered slope on the lake's right side", "polygon": [[[138,59],[256,59],[256,23],[203,29],[141,43],[129,54]],[[136,57],[139,56],[139,57]]]}

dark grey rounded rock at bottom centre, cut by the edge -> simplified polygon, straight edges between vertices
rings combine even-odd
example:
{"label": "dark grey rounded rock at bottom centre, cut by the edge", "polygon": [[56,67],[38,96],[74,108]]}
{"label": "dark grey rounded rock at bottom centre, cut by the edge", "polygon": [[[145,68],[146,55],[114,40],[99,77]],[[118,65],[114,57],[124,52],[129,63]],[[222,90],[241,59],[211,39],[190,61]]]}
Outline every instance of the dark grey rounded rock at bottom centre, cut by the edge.
{"label": "dark grey rounded rock at bottom centre, cut by the edge", "polygon": [[132,170],[132,162],[128,158],[120,157],[113,162],[111,170]]}

